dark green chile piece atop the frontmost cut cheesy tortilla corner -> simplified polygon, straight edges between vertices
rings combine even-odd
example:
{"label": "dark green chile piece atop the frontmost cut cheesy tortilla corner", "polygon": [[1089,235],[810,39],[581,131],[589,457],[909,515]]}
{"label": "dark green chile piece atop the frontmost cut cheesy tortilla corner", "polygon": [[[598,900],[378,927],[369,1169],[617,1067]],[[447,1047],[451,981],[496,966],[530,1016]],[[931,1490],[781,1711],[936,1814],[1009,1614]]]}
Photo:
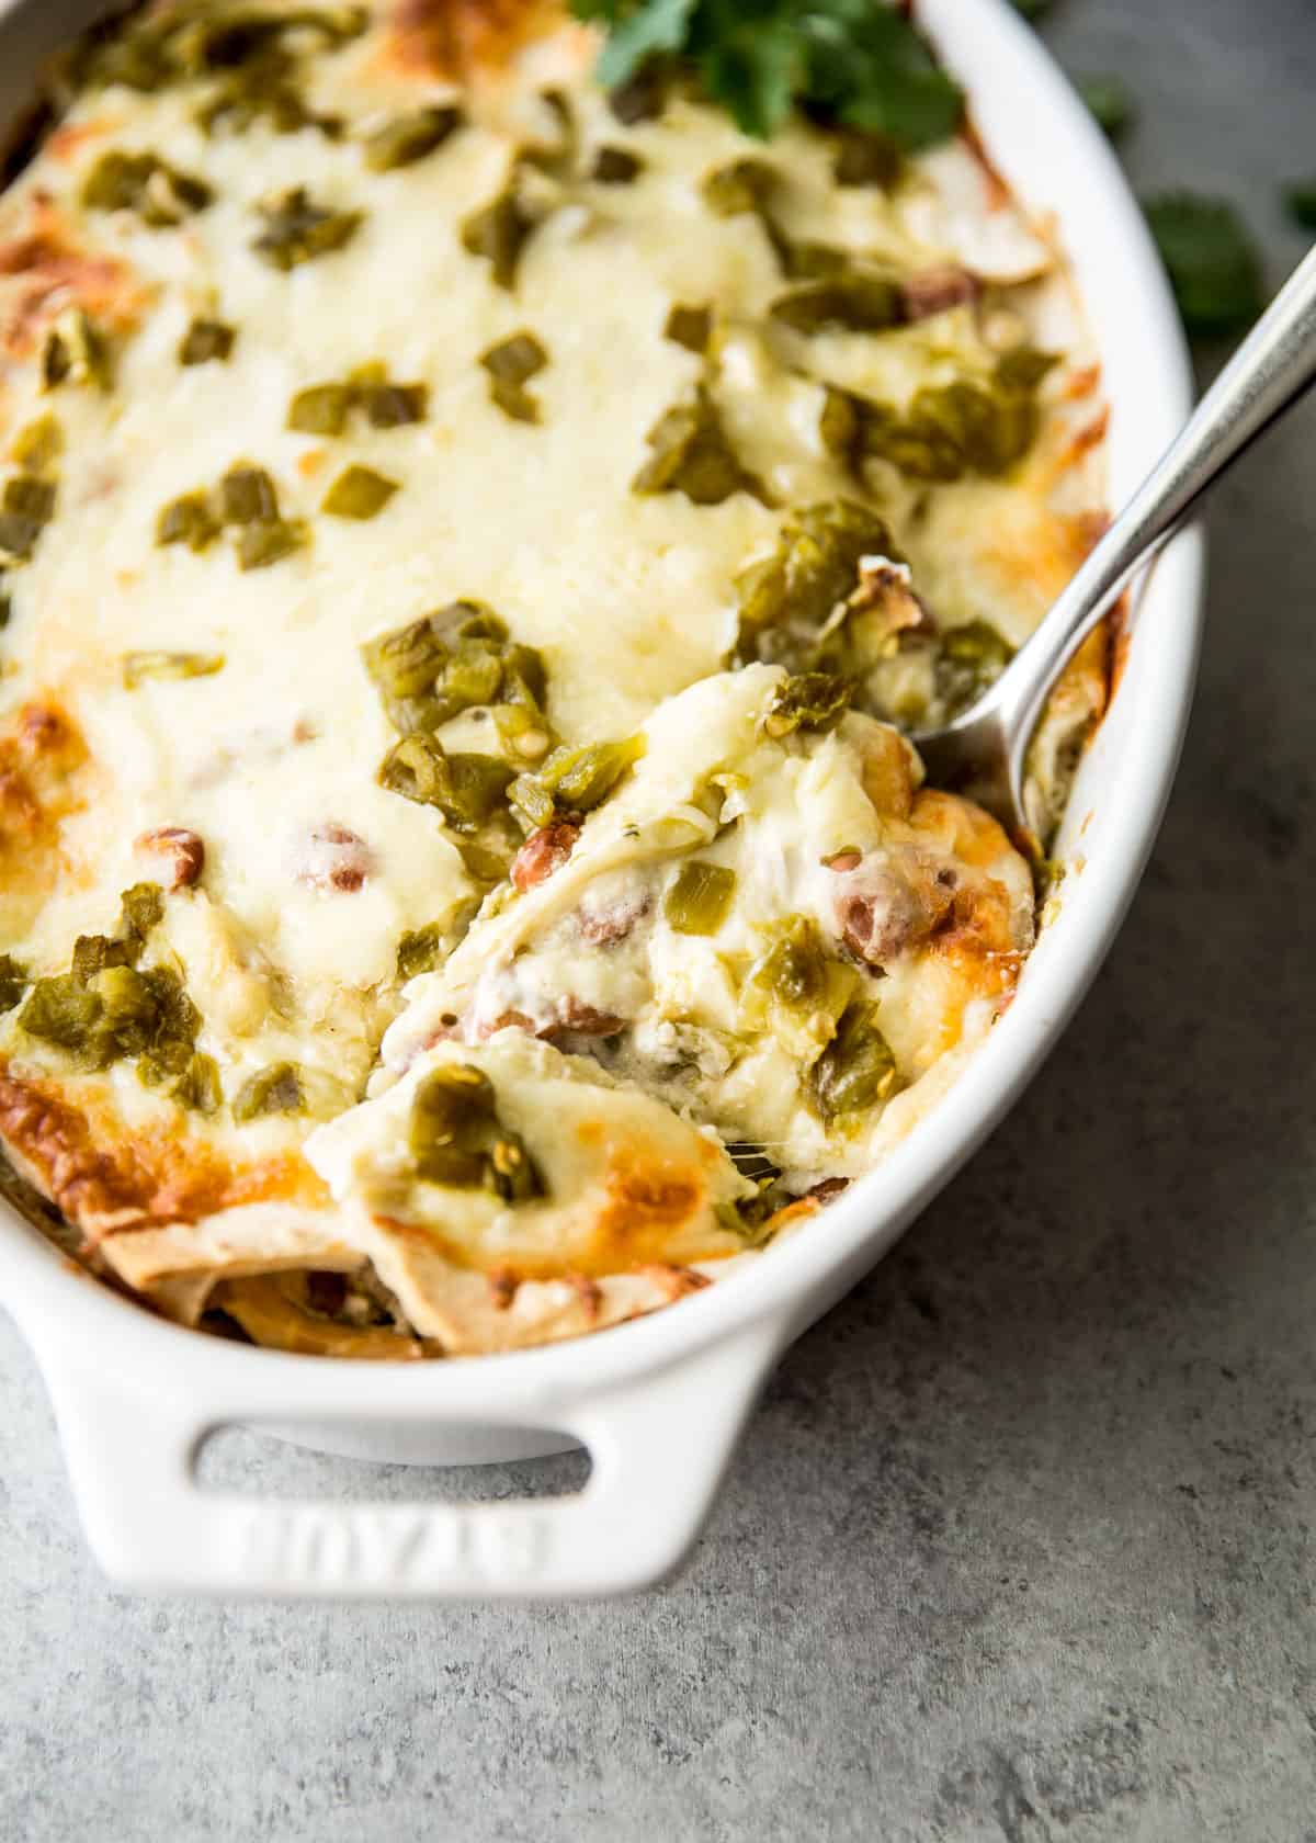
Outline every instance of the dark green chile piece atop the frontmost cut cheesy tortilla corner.
{"label": "dark green chile piece atop the frontmost cut cheesy tortilla corner", "polygon": [[498,1119],[492,1082],[470,1063],[431,1069],[417,1084],[407,1137],[426,1183],[492,1191],[505,1203],[544,1196],[525,1143]]}

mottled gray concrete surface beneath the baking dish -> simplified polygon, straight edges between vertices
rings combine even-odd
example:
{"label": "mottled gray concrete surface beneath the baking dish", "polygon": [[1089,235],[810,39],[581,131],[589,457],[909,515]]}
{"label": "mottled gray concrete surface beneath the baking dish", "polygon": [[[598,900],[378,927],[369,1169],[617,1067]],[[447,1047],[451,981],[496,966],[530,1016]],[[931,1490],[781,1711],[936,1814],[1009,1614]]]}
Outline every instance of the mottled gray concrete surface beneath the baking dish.
{"label": "mottled gray concrete surface beneath the baking dish", "polygon": [[[1309,0],[1060,0],[1145,184],[1277,280]],[[599,1607],[136,1602],[0,1325],[0,1836],[1314,1843],[1316,409],[1213,511],[1202,697],[1049,1074],[783,1362],[686,1576]],[[575,1461],[446,1480],[555,1485]],[[225,1478],[431,1478],[230,1436]]]}

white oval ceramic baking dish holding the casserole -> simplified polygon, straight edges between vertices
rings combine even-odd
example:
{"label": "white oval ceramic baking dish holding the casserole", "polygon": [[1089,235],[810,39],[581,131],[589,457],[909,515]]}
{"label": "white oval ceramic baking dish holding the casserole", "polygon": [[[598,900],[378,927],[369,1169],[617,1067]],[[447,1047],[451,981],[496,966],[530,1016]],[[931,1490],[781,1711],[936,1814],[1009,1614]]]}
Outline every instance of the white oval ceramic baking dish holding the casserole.
{"label": "white oval ceramic baking dish holding the casserole", "polygon": [[[0,122],[37,55],[87,17],[0,0]],[[1178,315],[1121,170],[1006,0],[922,0],[986,144],[1056,214],[1113,405],[1119,499],[1181,424]],[[1016,1003],[957,1087],[826,1216],[741,1275],[638,1323],[512,1356],[334,1364],[175,1329],[120,1301],[0,1205],[0,1297],[46,1377],[77,1506],[120,1583],[284,1594],[605,1594],[689,1548],[778,1353],[912,1222],[1054,1045],[1119,927],[1152,844],[1189,711],[1202,546],[1163,555],[1128,665],[1065,824],[1082,868]],[[1080,842],[1078,842],[1080,840]],[[525,1504],[265,1504],[201,1491],[208,1430],[243,1421],[335,1452],[453,1465],[582,1441],[582,1495]]]}

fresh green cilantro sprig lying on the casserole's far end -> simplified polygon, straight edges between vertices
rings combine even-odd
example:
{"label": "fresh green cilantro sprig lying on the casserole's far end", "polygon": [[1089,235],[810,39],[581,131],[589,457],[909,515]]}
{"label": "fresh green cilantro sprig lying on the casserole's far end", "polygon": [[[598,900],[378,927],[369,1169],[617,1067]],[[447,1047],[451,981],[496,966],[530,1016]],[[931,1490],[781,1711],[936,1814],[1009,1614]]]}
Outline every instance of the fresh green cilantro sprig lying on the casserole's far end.
{"label": "fresh green cilantro sprig lying on the casserole's far end", "polygon": [[793,107],[885,135],[907,153],[960,125],[964,96],[927,42],[874,0],[571,0],[608,33],[599,81],[680,59],[708,98],[761,140]]}

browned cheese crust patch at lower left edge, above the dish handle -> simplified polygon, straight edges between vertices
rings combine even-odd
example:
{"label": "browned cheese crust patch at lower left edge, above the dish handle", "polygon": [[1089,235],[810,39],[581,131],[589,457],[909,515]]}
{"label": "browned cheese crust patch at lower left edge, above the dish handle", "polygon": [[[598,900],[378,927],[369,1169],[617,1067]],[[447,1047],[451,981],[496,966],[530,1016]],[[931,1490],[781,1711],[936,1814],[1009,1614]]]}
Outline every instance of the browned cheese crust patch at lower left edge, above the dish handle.
{"label": "browned cheese crust patch at lower left edge, above the dish handle", "polygon": [[118,1229],[194,1222],[241,1203],[326,1203],[324,1185],[299,1154],[240,1165],[177,1132],[133,1141],[107,1108],[83,1111],[55,1080],[0,1063],[0,1139],[37,1187],[96,1246]]}

